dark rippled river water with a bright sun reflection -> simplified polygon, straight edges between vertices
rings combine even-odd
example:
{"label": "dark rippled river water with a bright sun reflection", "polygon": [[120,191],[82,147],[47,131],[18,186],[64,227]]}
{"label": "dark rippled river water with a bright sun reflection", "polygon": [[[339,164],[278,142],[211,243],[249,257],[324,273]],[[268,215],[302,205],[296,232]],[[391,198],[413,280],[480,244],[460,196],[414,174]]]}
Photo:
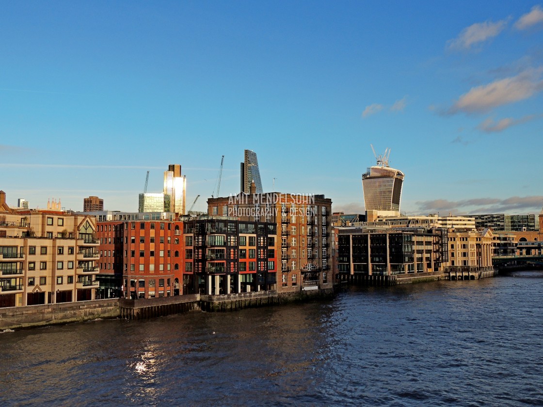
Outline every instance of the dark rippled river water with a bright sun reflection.
{"label": "dark rippled river water with a bright sun reflection", "polygon": [[0,405],[543,405],[543,272],[0,334]]}

